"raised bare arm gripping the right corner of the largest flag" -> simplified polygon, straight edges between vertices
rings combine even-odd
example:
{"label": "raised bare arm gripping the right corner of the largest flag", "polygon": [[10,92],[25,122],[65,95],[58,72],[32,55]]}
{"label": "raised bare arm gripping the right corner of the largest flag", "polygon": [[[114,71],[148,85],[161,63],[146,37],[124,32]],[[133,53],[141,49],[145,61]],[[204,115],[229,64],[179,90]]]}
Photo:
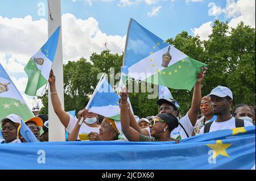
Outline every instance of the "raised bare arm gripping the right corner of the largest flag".
{"label": "raised bare arm gripping the right corner of the largest flag", "polygon": [[203,71],[201,71],[200,74],[197,75],[197,81],[194,86],[193,90],[193,98],[191,102],[191,108],[188,111],[188,117],[189,120],[191,121],[191,124],[195,126],[197,116],[200,110],[200,104],[201,104],[201,82],[204,79],[204,73],[205,73],[205,68],[201,68]]}

